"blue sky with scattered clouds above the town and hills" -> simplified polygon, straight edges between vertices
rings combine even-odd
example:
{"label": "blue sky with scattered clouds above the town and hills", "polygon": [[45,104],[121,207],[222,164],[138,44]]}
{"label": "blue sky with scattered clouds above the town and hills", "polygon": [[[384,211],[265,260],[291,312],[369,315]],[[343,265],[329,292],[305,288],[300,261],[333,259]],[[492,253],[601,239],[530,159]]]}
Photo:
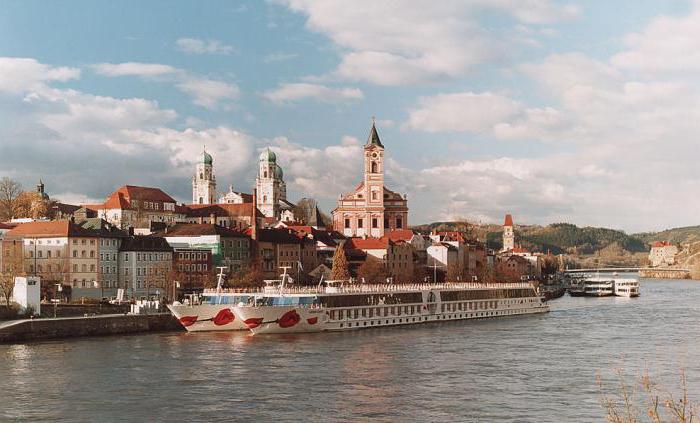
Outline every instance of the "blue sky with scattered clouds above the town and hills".
{"label": "blue sky with scattered clouds above the town and hills", "polygon": [[3,0],[0,176],[52,198],[124,184],[329,212],[372,117],[410,224],[699,224],[700,0]]}

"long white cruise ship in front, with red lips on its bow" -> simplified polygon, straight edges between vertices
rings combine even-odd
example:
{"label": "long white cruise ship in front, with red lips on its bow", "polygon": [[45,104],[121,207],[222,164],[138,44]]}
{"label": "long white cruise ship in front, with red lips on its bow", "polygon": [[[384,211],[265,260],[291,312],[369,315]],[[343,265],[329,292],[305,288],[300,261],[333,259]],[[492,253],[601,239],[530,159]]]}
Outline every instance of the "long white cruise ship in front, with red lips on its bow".
{"label": "long white cruise ship in front, with red lips on its bow", "polygon": [[[284,275],[283,275],[284,277]],[[248,304],[232,307],[254,334],[321,332],[479,319],[549,311],[534,287],[520,283],[352,284],[290,287],[284,279]]]}

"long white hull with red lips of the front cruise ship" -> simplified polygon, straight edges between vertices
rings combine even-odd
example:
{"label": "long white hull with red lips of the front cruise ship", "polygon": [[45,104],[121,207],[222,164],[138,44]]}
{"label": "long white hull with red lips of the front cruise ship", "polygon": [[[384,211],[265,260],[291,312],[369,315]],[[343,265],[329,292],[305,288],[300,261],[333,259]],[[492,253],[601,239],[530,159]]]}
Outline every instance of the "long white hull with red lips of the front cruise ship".
{"label": "long white hull with red lips of the front cruise ship", "polygon": [[539,297],[439,304],[393,304],[366,307],[233,306],[238,321],[254,334],[345,331],[413,325],[447,320],[546,313]]}

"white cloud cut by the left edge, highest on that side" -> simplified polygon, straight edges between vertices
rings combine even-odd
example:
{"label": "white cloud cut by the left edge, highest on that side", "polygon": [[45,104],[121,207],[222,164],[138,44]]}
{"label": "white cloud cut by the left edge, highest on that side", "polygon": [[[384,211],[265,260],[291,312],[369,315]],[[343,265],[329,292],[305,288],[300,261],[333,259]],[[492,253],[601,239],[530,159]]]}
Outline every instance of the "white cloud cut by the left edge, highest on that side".
{"label": "white cloud cut by the left edge, highest on that side", "polygon": [[80,78],[80,69],[51,66],[35,59],[0,57],[0,92],[22,93],[48,82],[66,82]]}

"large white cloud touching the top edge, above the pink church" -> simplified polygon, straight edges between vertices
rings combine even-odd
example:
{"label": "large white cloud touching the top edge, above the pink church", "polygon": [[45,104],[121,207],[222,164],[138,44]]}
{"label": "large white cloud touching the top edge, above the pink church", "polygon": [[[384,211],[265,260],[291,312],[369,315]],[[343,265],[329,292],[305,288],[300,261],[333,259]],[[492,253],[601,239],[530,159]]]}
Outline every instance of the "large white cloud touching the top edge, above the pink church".
{"label": "large white cloud touching the top edge, above the pink church", "polygon": [[477,15],[482,12],[497,12],[525,24],[578,14],[575,7],[548,0],[283,3],[304,14],[310,30],[328,36],[346,51],[334,76],[380,85],[456,78],[502,54],[508,43],[480,27]]}

